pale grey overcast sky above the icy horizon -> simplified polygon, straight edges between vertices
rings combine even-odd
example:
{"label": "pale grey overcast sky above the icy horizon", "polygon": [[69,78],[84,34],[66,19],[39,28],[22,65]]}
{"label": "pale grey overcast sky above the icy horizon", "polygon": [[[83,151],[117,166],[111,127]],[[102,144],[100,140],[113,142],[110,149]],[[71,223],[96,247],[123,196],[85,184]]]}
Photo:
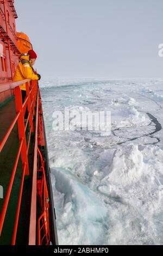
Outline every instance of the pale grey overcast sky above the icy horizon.
{"label": "pale grey overcast sky above the icy horizon", "polygon": [[162,0],[15,0],[44,77],[163,77]]}

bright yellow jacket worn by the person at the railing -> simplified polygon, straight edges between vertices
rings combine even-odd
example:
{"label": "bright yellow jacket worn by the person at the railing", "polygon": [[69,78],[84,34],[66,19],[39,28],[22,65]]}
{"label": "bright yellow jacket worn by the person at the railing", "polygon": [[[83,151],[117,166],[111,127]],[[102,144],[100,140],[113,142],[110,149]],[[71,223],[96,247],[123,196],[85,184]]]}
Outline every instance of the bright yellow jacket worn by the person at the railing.
{"label": "bright yellow jacket worn by the person at the railing", "polygon": [[[13,81],[21,81],[24,79],[38,80],[39,77],[34,74],[30,62],[29,62],[29,54],[24,53],[21,55],[20,62],[18,63],[15,74],[13,77]],[[26,83],[21,84],[21,90],[26,90]]]}

